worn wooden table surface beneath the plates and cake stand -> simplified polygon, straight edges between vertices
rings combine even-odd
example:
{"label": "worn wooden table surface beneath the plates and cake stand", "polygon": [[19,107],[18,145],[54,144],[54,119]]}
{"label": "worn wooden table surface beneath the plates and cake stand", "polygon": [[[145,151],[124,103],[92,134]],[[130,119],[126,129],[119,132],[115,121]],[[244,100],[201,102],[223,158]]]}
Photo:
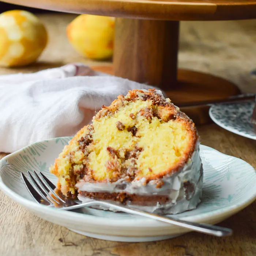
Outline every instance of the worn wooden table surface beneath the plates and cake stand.
{"label": "worn wooden table surface beneath the plates and cake stand", "polygon": [[[65,26],[74,15],[41,15],[49,31],[49,45],[38,63],[25,68],[0,68],[0,75],[34,72],[70,62],[106,65],[80,57],[68,44]],[[179,66],[210,72],[237,83],[244,92],[256,92],[256,20],[183,22]],[[241,158],[256,167],[256,142],[215,124],[198,127],[202,144]],[[0,158],[6,155],[0,153]],[[242,170],[241,170],[242,172]],[[197,256],[255,255],[256,202],[219,225],[234,230],[217,238],[195,232],[170,240],[143,243],[110,242],[81,236],[38,218],[0,191],[0,255],[115,255]]]}

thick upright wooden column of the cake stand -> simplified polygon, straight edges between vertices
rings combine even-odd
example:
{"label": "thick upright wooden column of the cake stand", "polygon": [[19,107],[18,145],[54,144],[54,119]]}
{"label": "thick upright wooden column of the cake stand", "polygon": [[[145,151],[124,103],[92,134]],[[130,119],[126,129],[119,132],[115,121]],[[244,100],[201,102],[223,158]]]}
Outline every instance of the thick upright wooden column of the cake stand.
{"label": "thick upright wooden column of the cake stand", "polygon": [[177,87],[179,22],[116,19],[114,75],[164,90]]}

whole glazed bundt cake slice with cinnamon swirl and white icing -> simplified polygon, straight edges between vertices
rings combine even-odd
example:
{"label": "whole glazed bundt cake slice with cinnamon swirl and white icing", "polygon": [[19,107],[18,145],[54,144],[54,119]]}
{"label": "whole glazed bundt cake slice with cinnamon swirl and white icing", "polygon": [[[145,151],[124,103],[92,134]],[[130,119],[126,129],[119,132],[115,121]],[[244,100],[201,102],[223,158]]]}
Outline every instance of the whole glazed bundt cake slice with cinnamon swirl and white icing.
{"label": "whole glazed bundt cake slice with cinnamon swirl and white icing", "polygon": [[68,198],[178,213],[200,202],[203,169],[195,124],[158,90],[120,95],[50,167]]}

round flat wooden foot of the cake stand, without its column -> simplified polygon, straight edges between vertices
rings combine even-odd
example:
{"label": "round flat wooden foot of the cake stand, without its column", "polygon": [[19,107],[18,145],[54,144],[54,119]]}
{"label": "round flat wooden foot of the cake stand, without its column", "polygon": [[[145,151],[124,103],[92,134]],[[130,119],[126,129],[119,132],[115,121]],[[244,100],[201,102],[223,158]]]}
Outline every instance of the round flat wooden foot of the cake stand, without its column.
{"label": "round flat wooden foot of the cake stand, without its column", "polygon": [[[96,71],[114,75],[112,65],[92,68]],[[186,102],[225,99],[240,93],[236,85],[225,79],[187,69],[178,69],[177,86],[174,89],[164,91],[167,97],[177,106]],[[181,108],[181,110],[197,125],[210,123],[211,121],[208,106],[186,107]]]}

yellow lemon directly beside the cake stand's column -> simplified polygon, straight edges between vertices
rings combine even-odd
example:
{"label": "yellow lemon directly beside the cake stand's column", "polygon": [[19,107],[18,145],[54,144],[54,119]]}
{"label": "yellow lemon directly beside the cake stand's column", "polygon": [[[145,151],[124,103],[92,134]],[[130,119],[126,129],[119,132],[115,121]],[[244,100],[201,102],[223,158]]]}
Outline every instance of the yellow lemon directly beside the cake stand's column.
{"label": "yellow lemon directly beside the cake stand's column", "polygon": [[67,27],[71,45],[84,57],[101,60],[113,55],[114,18],[82,14]]}

